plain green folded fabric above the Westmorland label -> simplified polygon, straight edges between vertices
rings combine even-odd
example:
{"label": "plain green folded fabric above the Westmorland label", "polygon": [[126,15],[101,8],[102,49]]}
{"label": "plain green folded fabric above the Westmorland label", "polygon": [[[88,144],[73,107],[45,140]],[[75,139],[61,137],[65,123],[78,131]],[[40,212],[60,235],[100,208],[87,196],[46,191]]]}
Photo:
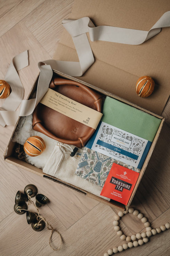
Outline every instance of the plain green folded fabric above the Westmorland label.
{"label": "plain green folded fabric above the Westmorland label", "polygon": [[153,141],[161,119],[116,99],[106,97],[101,121]]}

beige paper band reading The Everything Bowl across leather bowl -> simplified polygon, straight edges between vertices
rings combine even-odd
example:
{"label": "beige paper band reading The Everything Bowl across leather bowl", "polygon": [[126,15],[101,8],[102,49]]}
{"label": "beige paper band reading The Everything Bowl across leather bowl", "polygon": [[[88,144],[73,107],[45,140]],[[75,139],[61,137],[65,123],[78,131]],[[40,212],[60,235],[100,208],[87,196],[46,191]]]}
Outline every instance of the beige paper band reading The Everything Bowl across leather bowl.
{"label": "beige paper band reading The Everything Bowl across leather bowl", "polygon": [[91,109],[77,101],[73,101],[50,88],[41,99],[40,103],[93,129],[96,129],[103,115],[97,110]]}

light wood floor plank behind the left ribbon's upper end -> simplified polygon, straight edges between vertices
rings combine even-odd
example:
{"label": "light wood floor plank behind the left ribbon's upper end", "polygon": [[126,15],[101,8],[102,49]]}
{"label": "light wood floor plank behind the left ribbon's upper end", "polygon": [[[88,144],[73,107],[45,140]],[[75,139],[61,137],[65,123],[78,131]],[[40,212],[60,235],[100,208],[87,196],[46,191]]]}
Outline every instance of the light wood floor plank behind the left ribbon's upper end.
{"label": "light wood floor plank behind the left ribbon's upper end", "polygon": [[0,37],[0,45],[2,46],[0,48],[1,72],[4,76],[12,58],[17,54],[28,50],[29,66],[18,72],[24,86],[24,98],[27,98],[31,87],[39,74],[38,62],[49,59],[49,54],[22,22],[12,27],[11,30]]}

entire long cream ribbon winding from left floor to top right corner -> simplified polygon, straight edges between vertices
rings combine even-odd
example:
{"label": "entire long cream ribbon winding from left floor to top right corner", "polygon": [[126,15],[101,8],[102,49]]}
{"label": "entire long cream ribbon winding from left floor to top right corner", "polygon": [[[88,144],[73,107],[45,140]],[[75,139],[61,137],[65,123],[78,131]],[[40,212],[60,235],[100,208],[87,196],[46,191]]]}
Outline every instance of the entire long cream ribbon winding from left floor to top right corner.
{"label": "entire long cream ribbon winding from left floor to top right corner", "polygon": [[[63,20],[62,24],[70,35],[72,35],[79,62],[46,60],[39,63],[38,66],[40,69],[40,75],[36,91],[36,98],[23,101],[23,88],[21,88],[21,86],[18,87],[18,84],[20,84],[20,79],[18,80],[17,77],[18,83],[14,82],[15,79],[13,75],[15,71],[13,67],[9,67],[9,71],[7,72],[8,76],[7,78],[5,76],[5,80],[7,82],[9,81],[9,84],[12,85],[12,93],[9,95],[10,98],[8,97],[5,100],[5,103],[0,110],[0,124],[2,126],[5,126],[5,124],[15,125],[18,116],[27,116],[34,111],[34,108],[48,90],[49,83],[53,75],[52,69],[70,76],[82,76],[82,74],[84,74],[84,72],[94,63],[93,52],[86,35],[87,32],[89,33],[91,41],[101,40],[121,44],[139,45],[154,35],[157,35],[161,31],[162,27],[170,26],[170,11],[165,12],[149,31],[111,26],[95,27],[88,17],[78,20],[65,19]],[[18,56],[20,56],[20,54]],[[18,56],[15,57],[15,61],[17,58],[20,59]],[[14,59],[12,63],[13,62]],[[16,70],[19,70],[17,65],[15,66]],[[19,65],[19,67],[24,66],[26,66],[26,64],[23,64],[23,66]],[[15,94],[13,93],[14,91],[16,92]],[[20,103],[20,112],[18,114],[18,112],[15,112],[15,110]]]}

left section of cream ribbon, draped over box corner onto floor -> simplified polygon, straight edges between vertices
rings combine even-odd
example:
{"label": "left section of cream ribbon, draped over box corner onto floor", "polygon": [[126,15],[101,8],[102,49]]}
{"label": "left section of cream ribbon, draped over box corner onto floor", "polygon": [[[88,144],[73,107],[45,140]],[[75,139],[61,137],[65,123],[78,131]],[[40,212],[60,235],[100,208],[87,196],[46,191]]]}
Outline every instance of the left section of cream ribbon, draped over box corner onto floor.
{"label": "left section of cream ribbon, draped over box corner onto floor", "polygon": [[[40,75],[38,79],[36,98],[23,100],[24,88],[17,71],[27,66],[28,51],[25,51],[13,58],[9,65],[7,74],[5,75],[5,81],[9,83],[12,91],[0,108],[0,125],[3,127],[5,127],[5,125],[15,125],[19,116],[30,115],[48,90],[49,83],[53,76],[53,71],[49,65],[39,62],[38,67]],[[19,105],[20,111],[16,111]]]}

